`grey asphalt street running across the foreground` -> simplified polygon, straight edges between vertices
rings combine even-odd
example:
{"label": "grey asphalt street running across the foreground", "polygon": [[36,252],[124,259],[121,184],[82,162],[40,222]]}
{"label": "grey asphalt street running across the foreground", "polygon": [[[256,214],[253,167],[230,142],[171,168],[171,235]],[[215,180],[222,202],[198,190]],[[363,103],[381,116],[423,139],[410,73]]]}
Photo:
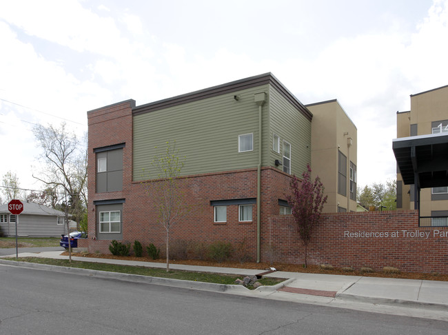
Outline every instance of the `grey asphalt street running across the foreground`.
{"label": "grey asphalt street running across the foreground", "polygon": [[448,323],[0,265],[0,334],[446,334]]}

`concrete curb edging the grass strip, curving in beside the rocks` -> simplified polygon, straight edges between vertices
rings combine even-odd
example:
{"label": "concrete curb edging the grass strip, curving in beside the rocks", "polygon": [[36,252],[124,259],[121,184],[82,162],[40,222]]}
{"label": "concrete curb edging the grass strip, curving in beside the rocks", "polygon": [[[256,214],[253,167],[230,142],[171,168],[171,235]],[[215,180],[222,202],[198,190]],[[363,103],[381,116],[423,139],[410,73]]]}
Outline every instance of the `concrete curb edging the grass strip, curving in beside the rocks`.
{"label": "concrete curb edging the grass strip, curving in beside the rocks", "polygon": [[21,261],[8,261],[0,258],[0,264],[17,266],[17,267],[28,267],[39,270],[47,270],[54,272],[63,272],[69,274],[77,274],[81,276],[95,276],[103,279],[115,279],[118,281],[128,281],[132,283],[144,283],[144,284],[155,284],[155,285],[165,285],[172,287],[181,287],[192,290],[203,290],[203,291],[211,291],[211,292],[227,292],[227,293],[235,293],[235,294],[248,294],[250,292],[274,292],[278,290],[278,288],[283,287],[286,283],[292,281],[289,279],[287,281],[283,281],[282,283],[278,283],[272,286],[261,286],[256,288],[256,290],[249,290],[247,287],[243,285],[225,285],[225,284],[217,284],[217,283],[205,283],[202,281],[184,281],[181,279],[172,279],[172,278],[161,278],[161,277],[152,277],[152,276],[142,276],[140,274],[123,274],[120,272],[109,272],[109,271],[100,271],[100,270],[90,270],[90,269],[82,269],[78,267],[65,267],[59,265],[48,265],[48,264],[39,264],[39,263],[28,263]]}

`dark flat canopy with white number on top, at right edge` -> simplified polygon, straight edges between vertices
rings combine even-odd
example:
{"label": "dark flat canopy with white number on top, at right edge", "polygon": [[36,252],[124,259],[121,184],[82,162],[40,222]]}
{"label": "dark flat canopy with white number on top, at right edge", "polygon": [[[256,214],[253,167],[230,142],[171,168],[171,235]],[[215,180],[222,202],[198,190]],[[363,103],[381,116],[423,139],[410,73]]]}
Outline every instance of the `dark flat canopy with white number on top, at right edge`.
{"label": "dark flat canopy with white number on top, at right edge", "polygon": [[392,149],[405,185],[448,186],[448,133],[394,139]]}

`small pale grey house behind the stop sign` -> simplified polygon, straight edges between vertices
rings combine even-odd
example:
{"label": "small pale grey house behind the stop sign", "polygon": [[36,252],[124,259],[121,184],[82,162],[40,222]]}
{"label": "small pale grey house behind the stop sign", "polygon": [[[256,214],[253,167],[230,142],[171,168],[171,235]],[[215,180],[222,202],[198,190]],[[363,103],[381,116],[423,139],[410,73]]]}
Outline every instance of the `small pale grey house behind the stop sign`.
{"label": "small pale grey house behind the stop sign", "polygon": [[23,201],[23,212],[12,215],[8,204],[0,205],[0,230],[3,236],[59,237],[65,234],[65,214],[37,203]]}

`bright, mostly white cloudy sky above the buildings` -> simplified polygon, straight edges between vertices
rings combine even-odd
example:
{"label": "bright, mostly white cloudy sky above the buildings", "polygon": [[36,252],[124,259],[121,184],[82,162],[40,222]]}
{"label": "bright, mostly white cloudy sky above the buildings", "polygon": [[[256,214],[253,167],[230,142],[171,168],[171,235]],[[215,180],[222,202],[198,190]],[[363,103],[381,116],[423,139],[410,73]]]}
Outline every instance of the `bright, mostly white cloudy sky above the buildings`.
{"label": "bright, mostly white cloudy sky above the buildings", "polygon": [[266,72],[305,105],[338,99],[358,185],[394,180],[396,112],[448,85],[447,41],[448,0],[0,0],[0,184],[43,189],[37,124],[82,137],[88,110]]}

